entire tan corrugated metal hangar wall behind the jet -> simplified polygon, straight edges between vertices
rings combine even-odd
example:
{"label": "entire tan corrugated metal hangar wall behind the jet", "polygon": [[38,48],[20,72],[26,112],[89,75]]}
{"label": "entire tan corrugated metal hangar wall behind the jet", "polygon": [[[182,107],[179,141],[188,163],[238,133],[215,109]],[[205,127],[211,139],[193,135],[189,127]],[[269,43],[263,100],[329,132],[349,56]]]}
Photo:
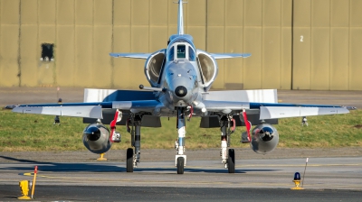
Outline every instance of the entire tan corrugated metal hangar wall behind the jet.
{"label": "entire tan corrugated metal hangar wall behind the jet", "polygon": [[[0,0],[1,87],[148,84],[145,60],[176,33],[173,0]],[[185,32],[218,60],[214,88],[362,90],[362,0],[189,0]],[[41,44],[55,45],[41,61]]]}

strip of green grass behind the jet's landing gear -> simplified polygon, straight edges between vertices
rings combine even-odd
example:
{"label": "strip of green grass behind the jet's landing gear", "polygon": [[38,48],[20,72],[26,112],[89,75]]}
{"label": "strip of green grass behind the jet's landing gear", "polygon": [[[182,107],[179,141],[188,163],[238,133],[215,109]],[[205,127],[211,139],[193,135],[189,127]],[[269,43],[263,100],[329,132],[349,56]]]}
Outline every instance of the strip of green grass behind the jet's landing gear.
{"label": "strip of green grass behind the jet's landing gear", "polygon": [[[0,110],[0,152],[22,151],[85,151],[81,141],[87,124],[81,118],[61,117],[62,125],[53,126],[52,115],[23,115],[10,110]],[[280,133],[279,147],[283,148],[333,148],[362,146],[362,111],[347,115],[308,117],[309,126],[300,126],[301,118],[281,119],[276,125]],[[176,141],[176,119],[162,118],[162,128],[142,128],[143,149],[172,149]],[[220,129],[199,128],[199,118],[186,122],[186,149],[220,147]],[[118,126],[122,142],[112,149],[130,146],[130,135],[125,126]],[[245,127],[237,127],[232,134],[232,147],[249,147],[240,143]]]}

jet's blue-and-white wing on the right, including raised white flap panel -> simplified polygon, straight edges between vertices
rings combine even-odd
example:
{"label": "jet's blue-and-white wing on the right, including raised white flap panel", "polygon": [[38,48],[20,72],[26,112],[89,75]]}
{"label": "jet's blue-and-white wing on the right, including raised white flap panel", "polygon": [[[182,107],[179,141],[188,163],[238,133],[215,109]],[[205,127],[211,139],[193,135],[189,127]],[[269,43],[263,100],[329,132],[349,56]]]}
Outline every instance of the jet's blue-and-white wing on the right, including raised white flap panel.
{"label": "jet's blue-and-white wing on the right, including raised white flap panel", "polygon": [[[227,97],[225,99],[225,97]],[[300,105],[278,103],[275,89],[209,91],[203,95],[202,104],[207,112],[239,114],[243,109],[247,114],[259,114],[260,120],[310,115],[346,114],[350,106]]]}

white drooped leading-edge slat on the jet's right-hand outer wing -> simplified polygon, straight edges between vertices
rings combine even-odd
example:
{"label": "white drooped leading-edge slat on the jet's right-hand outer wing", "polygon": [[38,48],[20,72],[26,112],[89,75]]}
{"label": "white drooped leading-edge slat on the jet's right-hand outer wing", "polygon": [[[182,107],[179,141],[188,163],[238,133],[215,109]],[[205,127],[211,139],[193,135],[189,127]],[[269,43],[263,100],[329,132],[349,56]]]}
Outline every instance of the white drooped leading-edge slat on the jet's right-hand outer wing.
{"label": "white drooped leading-edge slat on the jet's right-hand outer wing", "polygon": [[343,107],[261,106],[260,119],[347,114]]}

